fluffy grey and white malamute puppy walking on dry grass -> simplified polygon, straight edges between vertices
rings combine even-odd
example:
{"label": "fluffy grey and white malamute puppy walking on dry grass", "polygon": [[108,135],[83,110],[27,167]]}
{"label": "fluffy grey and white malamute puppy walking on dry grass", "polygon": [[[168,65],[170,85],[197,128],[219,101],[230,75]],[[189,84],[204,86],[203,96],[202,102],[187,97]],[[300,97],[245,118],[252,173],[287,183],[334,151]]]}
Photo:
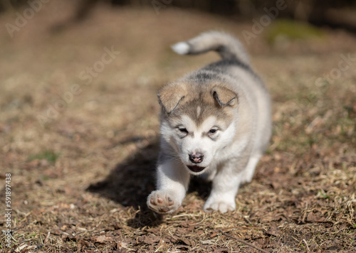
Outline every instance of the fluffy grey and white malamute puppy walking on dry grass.
{"label": "fluffy grey and white malamute puppy walking on dry grass", "polygon": [[270,97],[241,43],[226,33],[202,33],[172,49],[181,55],[214,50],[222,60],[159,90],[158,190],[147,205],[174,212],[190,177],[204,174],[212,181],[204,210],[234,210],[239,185],[251,181],[271,137]]}

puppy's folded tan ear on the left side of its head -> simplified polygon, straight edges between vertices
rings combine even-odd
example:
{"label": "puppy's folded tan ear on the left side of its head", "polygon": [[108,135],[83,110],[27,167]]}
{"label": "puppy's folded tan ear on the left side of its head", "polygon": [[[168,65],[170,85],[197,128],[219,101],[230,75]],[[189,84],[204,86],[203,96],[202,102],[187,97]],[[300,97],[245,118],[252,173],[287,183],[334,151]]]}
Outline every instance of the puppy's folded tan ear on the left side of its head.
{"label": "puppy's folded tan ear on the left side of its head", "polygon": [[172,83],[165,85],[157,93],[159,104],[167,114],[177,108],[179,102],[187,96],[187,86],[182,83]]}

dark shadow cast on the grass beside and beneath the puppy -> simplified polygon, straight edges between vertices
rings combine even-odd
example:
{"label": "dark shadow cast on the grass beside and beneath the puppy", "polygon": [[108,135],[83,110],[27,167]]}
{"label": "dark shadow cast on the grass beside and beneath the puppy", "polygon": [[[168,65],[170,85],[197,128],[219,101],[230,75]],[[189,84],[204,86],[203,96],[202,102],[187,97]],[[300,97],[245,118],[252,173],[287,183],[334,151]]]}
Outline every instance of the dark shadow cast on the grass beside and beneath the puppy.
{"label": "dark shadow cast on the grass beside and beneath the puppy", "polygon": [[[137,151],[117,164],[103,181],[91,183],[87,190],[125,207],[140,210],[127,225],[135,228],[157,226],[162,221],[162,215],[149,210],[146,200],[152,190],[155,190],[159,140],[155,138],[149,141],[141,137],[132,137],[120,142],[120,144],[130,143],[137,144]],[[206,198],[209,185],[200,181],[194,178],[189,186],[189,192],[196,191],[201,198]]]}

